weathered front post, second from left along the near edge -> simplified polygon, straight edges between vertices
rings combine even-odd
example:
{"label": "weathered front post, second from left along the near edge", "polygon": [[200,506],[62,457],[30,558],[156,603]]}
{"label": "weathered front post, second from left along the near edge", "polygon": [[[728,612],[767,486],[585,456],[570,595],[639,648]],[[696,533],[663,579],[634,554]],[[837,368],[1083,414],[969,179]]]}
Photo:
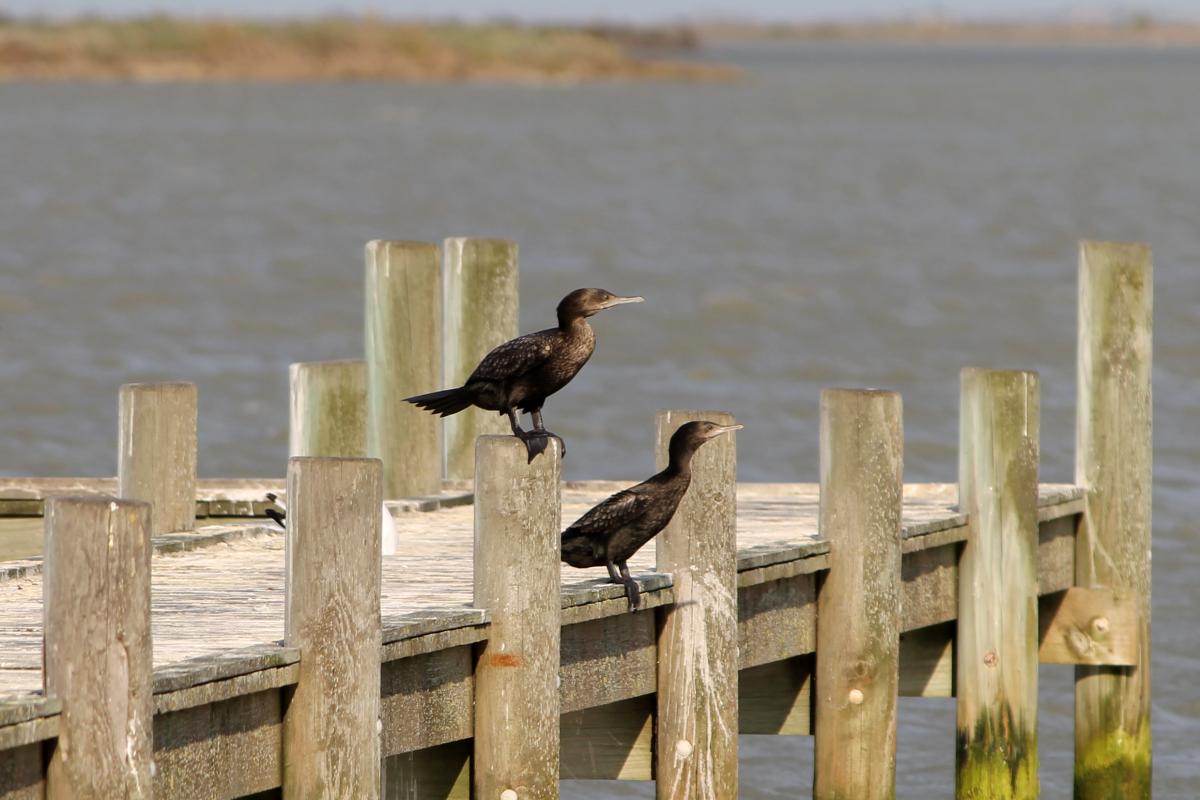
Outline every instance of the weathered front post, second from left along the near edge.
{"label": "weathered front post, second from left along the near edge", "polygon": [[382,504],[377,459],[288,459],[286,798],[379,796]]}

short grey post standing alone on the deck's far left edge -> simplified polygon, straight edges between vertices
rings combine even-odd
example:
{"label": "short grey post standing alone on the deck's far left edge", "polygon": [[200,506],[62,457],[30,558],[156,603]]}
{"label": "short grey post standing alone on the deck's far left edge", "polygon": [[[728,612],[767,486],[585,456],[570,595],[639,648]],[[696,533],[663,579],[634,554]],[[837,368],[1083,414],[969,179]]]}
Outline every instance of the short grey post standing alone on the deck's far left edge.
{"label": "short grey post standing alone on the deck's far left edge", "polygon": [[152,506],[154,535],[196,529],[196,384],[125,384],[118,494]]}

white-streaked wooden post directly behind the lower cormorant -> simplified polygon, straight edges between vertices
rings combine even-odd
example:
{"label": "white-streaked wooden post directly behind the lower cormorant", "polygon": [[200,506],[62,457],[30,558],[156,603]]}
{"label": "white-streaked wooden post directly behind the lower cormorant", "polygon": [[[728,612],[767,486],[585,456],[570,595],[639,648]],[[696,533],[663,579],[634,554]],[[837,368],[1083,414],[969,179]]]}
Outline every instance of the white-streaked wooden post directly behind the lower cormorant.
{"label": "white-streaked wooden post directly behind the lower cormorant", "polygon": [[[725,411],[659,411],[658,463],[671,434],[694,420],[733,425]],[[655,794],[660,800],[724,800],[738,794],[737,443],[703,445],[691,486],[659,534],[658,571],[674,603],[659,626]]]}

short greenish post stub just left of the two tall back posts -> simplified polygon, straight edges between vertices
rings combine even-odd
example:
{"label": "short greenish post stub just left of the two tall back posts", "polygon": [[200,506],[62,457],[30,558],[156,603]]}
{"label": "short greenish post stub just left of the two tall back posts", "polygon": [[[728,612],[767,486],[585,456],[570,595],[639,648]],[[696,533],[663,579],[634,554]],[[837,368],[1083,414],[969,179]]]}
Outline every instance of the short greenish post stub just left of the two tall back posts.
{"label": "short greenish post stub just left of the two tall back posts", "polygon": [[307,361],[288,371],[289,456],[367,455],[367,362]]}

